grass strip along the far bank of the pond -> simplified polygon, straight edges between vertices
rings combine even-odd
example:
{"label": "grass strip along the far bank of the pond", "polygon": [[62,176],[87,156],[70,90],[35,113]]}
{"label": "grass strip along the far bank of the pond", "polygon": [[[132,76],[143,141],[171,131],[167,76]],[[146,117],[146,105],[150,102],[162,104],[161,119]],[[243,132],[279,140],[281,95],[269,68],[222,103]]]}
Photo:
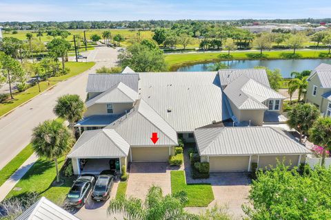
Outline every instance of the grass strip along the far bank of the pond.
{"label": "grass strip along the far bank of the pond", "polygon": [[[327,52],[326,50],[297,50],[301,58],[320,58],[320,53]],[[282,54],[292,54],[289,50],[265,51],[263,54],[267,55],[266,59],[283,59]],[[170,70],[175,70],[183,65],[190,65],[194,63],[209,63],[212,61],[222,61],[226,59],[219,58],[220,54],[227,54],[227,52],[205,52],[205,53],[190,53],[190,54],[165,54],[165,62],[168,64]],[[259,52],[231,52],[233,58],[231,60],[249,60],[247,54],[259,54]]]}

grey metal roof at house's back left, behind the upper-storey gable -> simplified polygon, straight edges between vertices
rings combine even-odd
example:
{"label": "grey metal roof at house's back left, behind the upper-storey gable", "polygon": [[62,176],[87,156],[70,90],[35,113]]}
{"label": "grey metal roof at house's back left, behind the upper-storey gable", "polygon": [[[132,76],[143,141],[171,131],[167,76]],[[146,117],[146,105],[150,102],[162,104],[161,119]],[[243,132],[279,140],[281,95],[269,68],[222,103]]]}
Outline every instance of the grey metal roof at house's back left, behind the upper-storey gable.
{"label": "grey metal roof at house's back left, behind the upper-storey gable", "polygon": [[134,91],[138,91],[138,74],[89,74],[87,92],[103,92],[122,82]]}

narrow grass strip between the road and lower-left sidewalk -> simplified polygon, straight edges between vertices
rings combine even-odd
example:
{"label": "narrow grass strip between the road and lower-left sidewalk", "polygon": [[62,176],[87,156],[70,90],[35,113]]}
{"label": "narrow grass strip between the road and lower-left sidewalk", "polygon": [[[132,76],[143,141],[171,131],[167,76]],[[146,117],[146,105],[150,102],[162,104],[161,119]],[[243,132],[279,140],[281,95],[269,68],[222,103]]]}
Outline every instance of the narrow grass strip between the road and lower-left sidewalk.
{"label": "narrow grass strip between the road and lower-left sidewalk", "polygon": [[28,159],[33,153],[31,144],[28,144],[23,150],[12,158],[6,166],[0,170],[0,186]]}

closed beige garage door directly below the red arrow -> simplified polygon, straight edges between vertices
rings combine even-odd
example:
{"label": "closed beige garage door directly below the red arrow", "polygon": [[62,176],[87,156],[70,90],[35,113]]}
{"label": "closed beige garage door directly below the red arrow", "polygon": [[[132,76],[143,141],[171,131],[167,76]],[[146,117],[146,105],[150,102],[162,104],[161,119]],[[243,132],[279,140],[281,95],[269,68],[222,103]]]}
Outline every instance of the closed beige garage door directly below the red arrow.
{"label": "closed beige garage door directly below the red arrow", "polygon": [[132,162],[168,162],[169,147],[132,147]]}

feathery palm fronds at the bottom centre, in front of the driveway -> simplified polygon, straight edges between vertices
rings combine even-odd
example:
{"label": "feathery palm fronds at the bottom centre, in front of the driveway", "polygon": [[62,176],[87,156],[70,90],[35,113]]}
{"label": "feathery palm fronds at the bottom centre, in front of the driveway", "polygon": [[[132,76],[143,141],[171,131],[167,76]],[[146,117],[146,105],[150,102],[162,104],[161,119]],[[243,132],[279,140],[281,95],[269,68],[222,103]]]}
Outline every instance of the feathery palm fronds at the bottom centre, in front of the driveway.
{"label": "feathery palm fronds at the bottom centre, in front of the driveway", "polygon": [[108,214],[122,213],[126,219],[161,220],[161,219],[198,219],[195,214],[184,210],[188,201],[186,192],[177,192],[163,197],[158,186],[152,186],[145,201],[137,198],[119,197],[110,201]]}

